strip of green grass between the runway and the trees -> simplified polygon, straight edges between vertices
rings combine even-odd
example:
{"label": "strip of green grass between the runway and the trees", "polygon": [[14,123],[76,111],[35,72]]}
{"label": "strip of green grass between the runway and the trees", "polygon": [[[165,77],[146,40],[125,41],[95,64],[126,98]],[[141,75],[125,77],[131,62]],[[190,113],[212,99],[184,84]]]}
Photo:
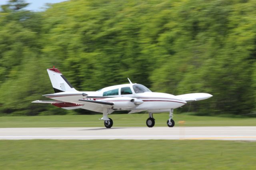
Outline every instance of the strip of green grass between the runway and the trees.
{"label": "strip of green grass between the runway and the trees", "polygon": [[[0,117],[0,128],[6,127],[104,127],[100,121],[102,115],[62,115],[34,117]],[[146,127],[147,113],[113,114],[113,127]],[[154,114],[156,127],[165,127],[168,113]],[[256,126],[256,118],[228,118],[174,114],[175,126],[179,121],[186,121],[182,126]]]}

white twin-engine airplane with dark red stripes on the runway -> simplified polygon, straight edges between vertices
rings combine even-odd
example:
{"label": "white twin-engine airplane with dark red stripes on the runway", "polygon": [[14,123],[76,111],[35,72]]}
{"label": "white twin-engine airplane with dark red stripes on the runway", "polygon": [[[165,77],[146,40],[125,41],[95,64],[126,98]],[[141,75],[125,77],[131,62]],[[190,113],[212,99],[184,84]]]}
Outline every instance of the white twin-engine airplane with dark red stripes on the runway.
{"label": "white twin-engine airplane with dark red stripes on the runway", "polygon": [[37,100],[32,103],[51,103],[68,110],[80,108],[103,113],[101,120],[104,121],[106,128],[111,128],[113,125],[113,121],[108,118],[108,115],[114,111],[124,110],[130,111],[129,113],[148,111],[149,118],[146,120],[148,127],[155,125],[153,113],[169,112],[167,125],[174,127],[172,119],[174,109],[182,107],[187,102],[212,97],[208,93],[190,93],[178,96],[156,93],[144,85],[132,83],[129,78],[129,84],[105,87],[98,91],[77,91],[57,68],[47,69],[47,72],[55,93],[43,96],[54,100]]}

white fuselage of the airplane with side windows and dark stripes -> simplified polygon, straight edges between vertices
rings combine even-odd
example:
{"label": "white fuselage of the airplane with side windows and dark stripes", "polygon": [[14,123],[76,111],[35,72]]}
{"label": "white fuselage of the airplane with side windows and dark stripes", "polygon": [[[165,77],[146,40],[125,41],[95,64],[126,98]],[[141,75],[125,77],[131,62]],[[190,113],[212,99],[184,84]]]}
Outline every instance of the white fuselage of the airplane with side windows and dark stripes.
{"label": "white fuselage of the airplane with side windows and dark stripes", "polygon": [[[144,86],[135,83],[110,86],[100,89],[99,91],[61,92],[44,96],[58,101],[76,103],[78,105],[83,104],[79,101],[80,99],[113,102],[115,105],[112,109],[116,110],[169,111],[170,109],[175,109],[186,104],[186,101],[174,95],[151,92],[149,89],[145,89],[145,91],[136,91],[136,87],[144,88]],[[83,96],[82,94],[86,94],[86,96]],[[120,99],[118,99],[119,97]],[[140,104],[135,105],[131,102],[134,98],[140,100]],[[100,112],[102,110],[98,108],[95,109],[94,106],[87,106],[86,109]]]}

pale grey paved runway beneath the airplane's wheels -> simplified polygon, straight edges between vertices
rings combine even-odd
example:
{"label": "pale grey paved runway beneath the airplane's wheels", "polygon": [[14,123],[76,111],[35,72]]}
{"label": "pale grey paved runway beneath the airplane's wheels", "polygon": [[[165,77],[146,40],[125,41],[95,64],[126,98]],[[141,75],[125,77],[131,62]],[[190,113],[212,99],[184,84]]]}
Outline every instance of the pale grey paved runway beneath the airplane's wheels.
{"label": "pale grey paved runway beneath the airplane's wheels", "polygon": [[256,127],[0,128],[0,140],[164,139],[256,141]]}

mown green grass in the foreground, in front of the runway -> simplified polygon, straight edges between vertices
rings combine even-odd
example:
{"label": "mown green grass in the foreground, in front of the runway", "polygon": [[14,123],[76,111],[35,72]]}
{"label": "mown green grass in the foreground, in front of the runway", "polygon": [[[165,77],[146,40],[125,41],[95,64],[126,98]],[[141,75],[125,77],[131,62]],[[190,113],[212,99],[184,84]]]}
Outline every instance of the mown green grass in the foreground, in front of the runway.
{"label": "mown green grass in the foreground, in front of the runway", "polygon": [[254,170],[256,142],[0,140],[1,170]]}

